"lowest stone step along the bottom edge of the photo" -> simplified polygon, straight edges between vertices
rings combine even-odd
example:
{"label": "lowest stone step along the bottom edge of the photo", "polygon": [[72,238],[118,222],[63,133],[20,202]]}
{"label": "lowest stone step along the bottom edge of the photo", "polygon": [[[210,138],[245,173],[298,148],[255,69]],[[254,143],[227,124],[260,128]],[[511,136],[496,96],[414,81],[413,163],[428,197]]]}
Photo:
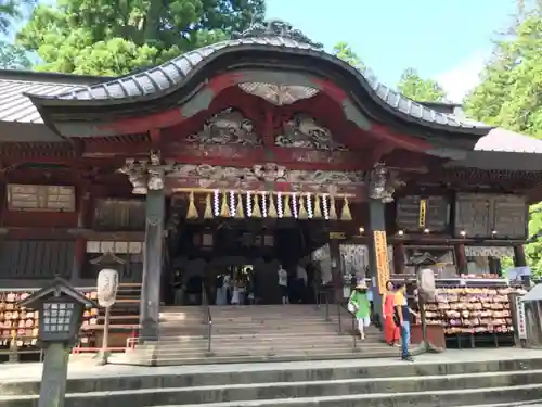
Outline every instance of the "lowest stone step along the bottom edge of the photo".
{"label": "lowest stone step along the bottom edge of the photo", "polygon": [[[542,370],[403,378],[363,378],[70,393],[66,407],[325,406],[453,407],[457,403],[539,399]],[[527,384],[527,383],[537,384]],[[450,390],[451,389],[451,390]],[[31,407],[37,396],[2,396],[0,407]]]}

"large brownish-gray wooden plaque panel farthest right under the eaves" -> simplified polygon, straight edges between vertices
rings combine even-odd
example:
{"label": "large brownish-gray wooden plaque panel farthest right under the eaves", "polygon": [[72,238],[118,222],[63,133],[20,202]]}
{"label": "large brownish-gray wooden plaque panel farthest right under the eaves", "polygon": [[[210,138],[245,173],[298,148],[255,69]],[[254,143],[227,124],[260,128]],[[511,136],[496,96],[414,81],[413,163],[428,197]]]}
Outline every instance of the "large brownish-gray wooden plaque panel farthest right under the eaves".
{"label": "large brownish-gray wooden plaque panel farthest right under the eaves", "polygon": [[465,231],[467,238],[526,239],[525,196],[457,193],[454,221],[456,237]]}

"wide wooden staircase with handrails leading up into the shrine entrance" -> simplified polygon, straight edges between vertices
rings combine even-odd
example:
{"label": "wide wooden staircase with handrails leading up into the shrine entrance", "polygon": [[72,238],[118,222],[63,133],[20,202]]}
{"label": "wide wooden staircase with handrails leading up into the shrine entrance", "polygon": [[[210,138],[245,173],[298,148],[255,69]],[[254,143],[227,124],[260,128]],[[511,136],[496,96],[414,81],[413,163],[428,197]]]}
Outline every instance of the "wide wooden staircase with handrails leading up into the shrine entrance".
{"label": "wide wooden staircase with handrails leading up into the shrine entrance", "polygon": [[[366,341],[338,334],[313,305],[211,306],[211,341],[201,307],[166,307],[160,313],[160,340],[154,346],[154,365],[234,363],[398,356],[380,343],[376,330]],[[351,322],[347,321],[350,323]],[[354,347],[356,345],[356,347]],[[146,349],[146,351],[145,351]],[[141,363],[141,361],[140,361]]]}

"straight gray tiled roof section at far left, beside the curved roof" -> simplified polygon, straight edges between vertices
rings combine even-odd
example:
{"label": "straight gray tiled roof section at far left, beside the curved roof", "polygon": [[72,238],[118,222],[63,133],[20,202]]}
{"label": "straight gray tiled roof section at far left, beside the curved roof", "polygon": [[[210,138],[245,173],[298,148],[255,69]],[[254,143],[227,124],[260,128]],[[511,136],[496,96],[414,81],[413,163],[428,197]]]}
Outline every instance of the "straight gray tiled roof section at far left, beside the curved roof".
{"label": "straight gray tiled roof section at far left, beside the curved roof", "polygon": [[80,89],[76,85],[0,79],[0,122],[43,123],[41,115],[25,93],[55,96]]}

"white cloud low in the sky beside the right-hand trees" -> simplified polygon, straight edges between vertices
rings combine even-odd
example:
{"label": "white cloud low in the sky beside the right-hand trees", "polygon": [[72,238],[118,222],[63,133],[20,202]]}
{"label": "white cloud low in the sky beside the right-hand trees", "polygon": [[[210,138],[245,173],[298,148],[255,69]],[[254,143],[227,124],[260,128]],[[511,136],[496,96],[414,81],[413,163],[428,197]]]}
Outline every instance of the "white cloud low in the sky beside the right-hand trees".
{"label": "white cloud low in the sky beside the right-hand trees", "polygon": [[480,73],[488,58],[488,52],[477,52],[461,61],[435,79],[444,88],[451,102],[461,103],[463,97],[479,82]]}

